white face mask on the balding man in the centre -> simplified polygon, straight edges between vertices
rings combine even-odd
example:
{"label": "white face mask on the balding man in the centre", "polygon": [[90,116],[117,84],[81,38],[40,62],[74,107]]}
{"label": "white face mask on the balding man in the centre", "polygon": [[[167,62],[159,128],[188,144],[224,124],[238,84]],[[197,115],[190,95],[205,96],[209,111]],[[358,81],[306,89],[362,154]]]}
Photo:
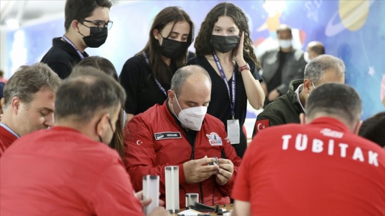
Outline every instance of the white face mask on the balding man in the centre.
{"label": "white face mask on the balding man in the centre", "polygon": [[[177,105],[179,106],[179,102],[177,99],[177,95],[175,94],[175,100],[177,101]],[[171,108],[174,111],[173,106]],[[186,108],[184,110],[181,109],[177,119],[181,122],[182,127],[190,130],[201,130],[203,119],[207,112],[207,106],[196,106],[191,108]]]}

